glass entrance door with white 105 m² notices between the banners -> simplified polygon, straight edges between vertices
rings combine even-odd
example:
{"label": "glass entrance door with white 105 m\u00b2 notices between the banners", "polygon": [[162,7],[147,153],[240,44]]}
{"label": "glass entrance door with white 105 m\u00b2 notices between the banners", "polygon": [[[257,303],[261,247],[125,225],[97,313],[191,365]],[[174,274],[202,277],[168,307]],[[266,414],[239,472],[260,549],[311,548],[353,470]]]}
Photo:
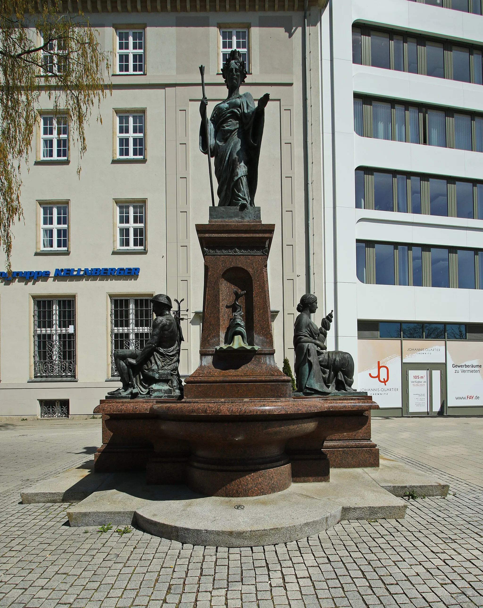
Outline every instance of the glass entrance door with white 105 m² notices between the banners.
{"label": "glass entrance door with white 105 m\u00b2 notices between the banners", "polygon": [[403,384],[403,415],[436,416],[445,413],[445,365],[404,364]]}

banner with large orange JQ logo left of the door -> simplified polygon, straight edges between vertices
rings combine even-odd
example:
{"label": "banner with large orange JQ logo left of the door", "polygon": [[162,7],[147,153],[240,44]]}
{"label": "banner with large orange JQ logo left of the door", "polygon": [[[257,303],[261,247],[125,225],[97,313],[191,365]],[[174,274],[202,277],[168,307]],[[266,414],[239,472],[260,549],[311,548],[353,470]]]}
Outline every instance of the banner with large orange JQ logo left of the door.
{"label": "banner with large orange JQ logo left of the door", "polygon": [[358,340],[357,390],[379,407],[402,407],[400,340]]}

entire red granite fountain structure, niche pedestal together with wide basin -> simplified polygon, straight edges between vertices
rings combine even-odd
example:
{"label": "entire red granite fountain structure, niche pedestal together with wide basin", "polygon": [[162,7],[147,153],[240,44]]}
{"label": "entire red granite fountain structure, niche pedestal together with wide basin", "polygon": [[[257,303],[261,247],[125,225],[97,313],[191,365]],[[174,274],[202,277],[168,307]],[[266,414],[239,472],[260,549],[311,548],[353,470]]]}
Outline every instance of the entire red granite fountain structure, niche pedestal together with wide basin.
{"label": "entire red granite fountain structure, niche pedestal together with wide basin", "polygon": [[[142,471],[151,484],[183,484],[199,494],[273,494],[295,482],[328,482],[330,466],[379,466],[365,393],[292,397],[275,363],[267,259],[274,224],[256,208],[238,218],[210,212],[196,231],[204,257],[199,367],[184,398],[106,399],[95,471]],[[246,332],[227,345],[234,290]]]}

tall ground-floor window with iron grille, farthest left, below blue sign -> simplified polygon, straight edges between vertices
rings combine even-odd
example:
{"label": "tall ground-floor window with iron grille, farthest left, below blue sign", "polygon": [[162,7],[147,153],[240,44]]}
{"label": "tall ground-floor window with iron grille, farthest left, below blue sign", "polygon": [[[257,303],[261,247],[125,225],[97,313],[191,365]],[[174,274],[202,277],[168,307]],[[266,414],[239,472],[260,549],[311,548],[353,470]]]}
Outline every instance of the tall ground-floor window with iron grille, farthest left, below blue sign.
{"label": "tall ground-floor window with iron grille, farthest left, below blue sign", "polygon": [[75,378],[75,302],[35,300],[33,306],[35,378]]}

